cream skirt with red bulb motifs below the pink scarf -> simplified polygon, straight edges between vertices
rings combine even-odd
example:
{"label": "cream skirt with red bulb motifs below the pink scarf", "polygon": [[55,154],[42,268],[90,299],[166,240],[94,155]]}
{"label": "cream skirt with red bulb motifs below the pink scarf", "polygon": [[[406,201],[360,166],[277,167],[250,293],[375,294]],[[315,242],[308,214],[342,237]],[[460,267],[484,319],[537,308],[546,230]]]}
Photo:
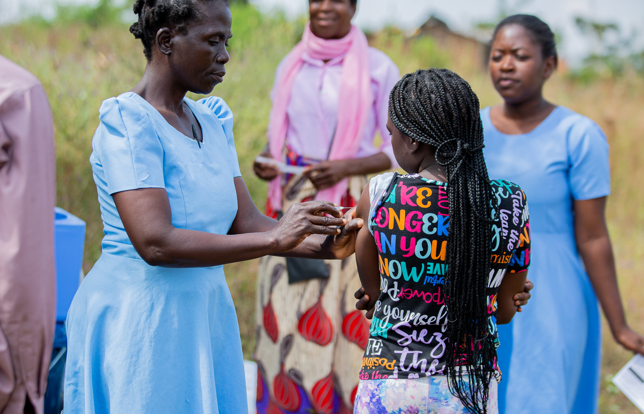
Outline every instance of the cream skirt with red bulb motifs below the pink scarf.
{"label": "cream skirt with red bulb motifs below the pink scarf", "polygon": [[[342,200],[355,206],[365,176],[351,176]],[[287,178],[283,211],[315,197],[301,175]],[[269,210],[270,212],[270,210]],[[326,260],[328,278],[289,284],[286,259],[260,261],[256,299],[258,414],[351,413],[369,337],[364,312],[355,309],[361,287],[355,256]]]}

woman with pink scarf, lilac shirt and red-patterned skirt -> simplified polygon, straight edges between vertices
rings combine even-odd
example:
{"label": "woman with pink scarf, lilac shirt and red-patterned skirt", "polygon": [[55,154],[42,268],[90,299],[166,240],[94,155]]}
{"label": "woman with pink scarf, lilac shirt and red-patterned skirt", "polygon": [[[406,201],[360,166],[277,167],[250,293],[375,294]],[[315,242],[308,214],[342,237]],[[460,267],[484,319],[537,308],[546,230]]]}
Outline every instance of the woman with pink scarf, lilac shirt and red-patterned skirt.
{"label": "woman with pink scarf, lilac shirt and red-patterned skirt", "polygon": [[[352,26],[356,2],[310,0],[302,41],[277,68],[269,145],[261,155],[307,170],[280,173],[271,164],[254,164],[269,181],[266,214],[274,218],[308,200],[354,207],[366,174],[396,166],[386,122],[400,72]],[[353,256],[262,259],[254,355],[258,413],[352,410],[369,335],[364,315],[352,306],[360,286]]]}

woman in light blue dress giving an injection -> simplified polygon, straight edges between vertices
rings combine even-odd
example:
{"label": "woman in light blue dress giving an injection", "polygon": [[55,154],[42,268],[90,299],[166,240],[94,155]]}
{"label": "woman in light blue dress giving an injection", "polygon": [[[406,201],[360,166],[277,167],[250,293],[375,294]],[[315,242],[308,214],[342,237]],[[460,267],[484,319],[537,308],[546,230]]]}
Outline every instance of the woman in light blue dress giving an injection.
{"label": "woman in light blue dress giving an injection", "polygon": [[185,98],[222,82],[225,0],[138,0],[134,12],[147,66],[100,108],[90,161],[105,236],[68,314],[64,411],[246,413],[222,265],[346,258],[361,220],[319,201],[279,222],[261,214],[240,174],[231,110],[216,97]]}

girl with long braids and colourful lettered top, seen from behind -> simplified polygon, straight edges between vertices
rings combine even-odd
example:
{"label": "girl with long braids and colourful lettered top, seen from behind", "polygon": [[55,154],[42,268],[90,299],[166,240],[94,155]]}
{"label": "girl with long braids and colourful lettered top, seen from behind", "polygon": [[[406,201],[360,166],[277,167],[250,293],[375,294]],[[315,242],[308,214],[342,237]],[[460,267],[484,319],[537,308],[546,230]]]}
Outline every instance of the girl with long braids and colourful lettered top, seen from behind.
{"label": "girl with long braids and colourful lettered top, seen from behind", "polygon": [[372,317],[355,413],[497,413],[497,323],[530,262],[526,194],[490,181],[478,98],[446,69],[408,73],[387,128],[407,174],[372,178],[356,258]]}

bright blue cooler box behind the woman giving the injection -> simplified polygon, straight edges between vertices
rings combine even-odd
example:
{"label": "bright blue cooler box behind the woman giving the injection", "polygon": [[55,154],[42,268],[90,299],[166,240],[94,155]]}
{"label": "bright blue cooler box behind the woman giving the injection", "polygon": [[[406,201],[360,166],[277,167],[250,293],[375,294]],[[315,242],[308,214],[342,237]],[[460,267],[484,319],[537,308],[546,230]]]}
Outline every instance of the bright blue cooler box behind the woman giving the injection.
{"label": "bright blue cooler box behind the woman giving the injection", "polygon": [[58,300],[56,320],[64,322],[71,299],[81,282],[82,254],[85,247],[85,221],[64,211],[54,209],[56,241],[56,280]]}

